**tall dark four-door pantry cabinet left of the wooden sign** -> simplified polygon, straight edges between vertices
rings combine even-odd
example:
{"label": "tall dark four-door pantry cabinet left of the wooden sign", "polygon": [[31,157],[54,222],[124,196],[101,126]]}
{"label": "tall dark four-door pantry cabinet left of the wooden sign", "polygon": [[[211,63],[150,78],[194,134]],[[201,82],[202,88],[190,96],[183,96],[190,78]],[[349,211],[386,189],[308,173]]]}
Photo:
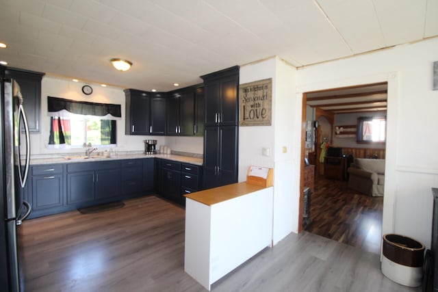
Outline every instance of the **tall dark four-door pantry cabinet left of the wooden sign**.
{"label": "tall dark four-door pantry cabinet left of the wooden sign", "polygon": [[239,66],[203,75],[205,93],[203,189],[237,183]]}

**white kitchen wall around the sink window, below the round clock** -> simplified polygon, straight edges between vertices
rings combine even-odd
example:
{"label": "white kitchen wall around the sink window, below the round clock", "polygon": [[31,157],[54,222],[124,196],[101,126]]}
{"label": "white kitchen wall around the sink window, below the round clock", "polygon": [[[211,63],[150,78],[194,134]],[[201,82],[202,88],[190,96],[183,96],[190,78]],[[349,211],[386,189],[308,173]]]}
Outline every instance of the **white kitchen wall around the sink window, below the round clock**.
{"label": "white kitchen wall around the sink window, below the round clock", "polygon": [[[90,96],[82,94],[81,88],[84,83],[73,82],[69,79],[44,76],[41,83],[41,116],[40,133],[31,134],[32,155],[62,155],[64,153],[82,152],[82,148],[54,149],[47,148],[49,140],[50,117],[47,116],[47,96],[71,99],[74,101],[90,101],[96,103],[113,103],[121,105],[122,120],[117,121],[117,150],[142,151],[143,140],[155,139],[157,146],[168,144],[172,150],[203,153],[203,137],[164,137],[164,136],[140,136],[125,135],[125,93],[122,88],[103,88],[100,85],[92,85],[93,93]],[[99,150],[99,149],[98,149]]]}

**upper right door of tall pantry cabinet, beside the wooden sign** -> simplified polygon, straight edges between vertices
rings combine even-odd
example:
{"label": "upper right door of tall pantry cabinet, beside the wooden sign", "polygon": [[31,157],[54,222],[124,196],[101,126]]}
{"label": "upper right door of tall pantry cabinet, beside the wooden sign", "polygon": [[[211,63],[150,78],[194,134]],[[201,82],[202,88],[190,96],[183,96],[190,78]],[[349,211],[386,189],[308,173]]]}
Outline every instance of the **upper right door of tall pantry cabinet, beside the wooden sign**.
{"label": "upper right door of tall pantry cabinet, beside the wooden sign", "polygon": [[220,82],[221,104],[219,124],[221,125],[237,126],[237,86],[237,76],[227,77]]}

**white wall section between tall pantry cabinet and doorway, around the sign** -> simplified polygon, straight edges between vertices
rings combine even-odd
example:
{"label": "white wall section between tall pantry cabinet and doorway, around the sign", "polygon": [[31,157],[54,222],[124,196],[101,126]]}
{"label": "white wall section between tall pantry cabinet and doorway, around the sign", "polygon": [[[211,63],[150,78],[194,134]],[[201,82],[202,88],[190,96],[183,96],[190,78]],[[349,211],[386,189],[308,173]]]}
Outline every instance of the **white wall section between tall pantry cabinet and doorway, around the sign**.
{"label": "white wall section between tall pantry cabinet and doorway, around the sign", "polygon": [[[272,125],[239,127],[239,181],[246,181],[250,165],[274,168],[274,244],[298,231],[299,167],[297,174],[294,164],[300,159],[301,134],[292,131],[292,124],[301,120],[301,101],[295,74],[278,57],[240,67],[240,84],[272,78]],[[270,157],[261,155],[263,147],[271,149]]]}

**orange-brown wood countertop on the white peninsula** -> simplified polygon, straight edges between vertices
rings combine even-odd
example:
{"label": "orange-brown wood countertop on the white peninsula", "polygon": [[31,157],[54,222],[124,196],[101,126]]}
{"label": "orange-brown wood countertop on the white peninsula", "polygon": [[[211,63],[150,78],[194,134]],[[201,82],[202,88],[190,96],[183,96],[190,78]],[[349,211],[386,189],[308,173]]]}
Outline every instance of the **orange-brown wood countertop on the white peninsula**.
{"label": "orange-brown wood countertop on the white peninsula", "polygon": [[211,206],[213,204],[218,204],[226,200],[244,196],[261,189],[266,189],[266,187],[250,185],[246,182],[243,182],[233,183],[231,185],[223,185],[222,187],[214,187],[213,189],[205,189],[204,191],[196,191],[195,193],[184,196],[185,198],[189,198],[202,204],[206,204],[207,206]]}

